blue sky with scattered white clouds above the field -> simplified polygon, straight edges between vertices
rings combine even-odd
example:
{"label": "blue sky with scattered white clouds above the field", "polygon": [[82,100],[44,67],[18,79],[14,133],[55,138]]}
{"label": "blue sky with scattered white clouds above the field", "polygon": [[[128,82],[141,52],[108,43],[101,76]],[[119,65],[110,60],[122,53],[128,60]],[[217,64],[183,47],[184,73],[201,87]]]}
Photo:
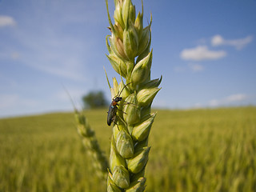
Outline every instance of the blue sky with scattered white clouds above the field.
{"label": "blue sky with scattered white clouds above the field", "polygon": [[[255,0],[145,0],[152,78],[163,76],[154,107],[256,105],[255,10]],[[63,86],[78,106],[91,90],[111,101],[107,26],[104,0],[0,0],[0,117],[72,110]]]}

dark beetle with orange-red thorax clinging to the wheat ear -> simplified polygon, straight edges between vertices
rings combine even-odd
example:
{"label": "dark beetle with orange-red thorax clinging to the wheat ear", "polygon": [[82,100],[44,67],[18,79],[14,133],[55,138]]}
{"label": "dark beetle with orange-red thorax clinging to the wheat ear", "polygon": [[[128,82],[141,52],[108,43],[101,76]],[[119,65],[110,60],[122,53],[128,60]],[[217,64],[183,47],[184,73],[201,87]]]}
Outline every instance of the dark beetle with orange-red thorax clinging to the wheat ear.
{"label": "dark beetle with orange-red thorax clinging to the wheat ear", "polygon": [[[130,83],[131,82],[127,83],[126,86],[129,85]],[[122,90],[124,90],[126,86],[122,87]],[[117,112],[118,112],[118,106],[119,106],[118,102],[122,101],[122,97],[120,97],[120,95],[122,94],[122,90],[120,91],[120,93],[118,93],[116,96],[114,96],[114,98],[110,104],[109,111],[107,112],[107,121],[106,121],[108,126],[110,126],[112,122],[117,124],[114,120],[115,120],[115,118],[117,116]],[[131,104],[131,103],[126,102],[126,104]],[[125,112],[123,112],[123,113],[126,114]]]}

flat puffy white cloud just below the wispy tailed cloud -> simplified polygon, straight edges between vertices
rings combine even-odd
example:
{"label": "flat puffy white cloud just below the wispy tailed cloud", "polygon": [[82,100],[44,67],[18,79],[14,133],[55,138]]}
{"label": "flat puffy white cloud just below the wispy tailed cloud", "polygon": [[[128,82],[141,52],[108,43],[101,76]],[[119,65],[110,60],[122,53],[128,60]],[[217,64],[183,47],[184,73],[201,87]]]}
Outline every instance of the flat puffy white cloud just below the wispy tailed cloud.
{"label": "flat puffy white cloud just below the wispy tailed cloud", "polygon": [[196,46],[191,49],[184,49],[180,54],[182,59],[190,61],[215,60],[225,56],[226,51],[209,50],[207,46]]}

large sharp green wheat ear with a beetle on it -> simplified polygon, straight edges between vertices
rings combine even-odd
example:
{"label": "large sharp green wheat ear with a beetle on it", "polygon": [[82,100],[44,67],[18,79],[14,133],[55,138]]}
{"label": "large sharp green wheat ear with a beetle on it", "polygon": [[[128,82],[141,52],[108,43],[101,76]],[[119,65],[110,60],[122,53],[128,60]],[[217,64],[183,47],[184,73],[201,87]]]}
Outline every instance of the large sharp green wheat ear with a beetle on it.
{"label": "large sharp green wheat ear with a beetle on it", "polygon": [[160,90],[162,78],[150,79],[152,16],[150,24],[144,27],[143,3],[142,13],[137,17],[131,0],[115,0],[114,4],[113,24],[106,0],[111,31],[111,35],[106,36],[110,53],[106,56],[114,70],[126,79],[126,84],[123,81],[118,84],[113,78],[113,87],[110,87],[112,98],[122,91],[123,99],[118,103],[113,123],[107,191],[144,191],[145,166],[150,152],[148,136],[156,115],[150,114],[151,104]]}

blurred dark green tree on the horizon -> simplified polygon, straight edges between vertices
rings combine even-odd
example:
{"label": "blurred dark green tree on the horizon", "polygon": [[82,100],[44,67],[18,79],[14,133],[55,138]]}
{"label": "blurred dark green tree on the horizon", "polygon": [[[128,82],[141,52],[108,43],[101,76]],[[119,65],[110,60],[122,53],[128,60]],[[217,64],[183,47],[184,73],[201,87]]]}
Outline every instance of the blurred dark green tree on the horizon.
{"label": "blurred dark green tree on the horizon", "polygon": [[86,94],[82,97],[82,102],[84,105],[84,108],[102,108],[106,106],[106,98],[104,96],[104,93],[99,91],[90,91],[89,94]]}

